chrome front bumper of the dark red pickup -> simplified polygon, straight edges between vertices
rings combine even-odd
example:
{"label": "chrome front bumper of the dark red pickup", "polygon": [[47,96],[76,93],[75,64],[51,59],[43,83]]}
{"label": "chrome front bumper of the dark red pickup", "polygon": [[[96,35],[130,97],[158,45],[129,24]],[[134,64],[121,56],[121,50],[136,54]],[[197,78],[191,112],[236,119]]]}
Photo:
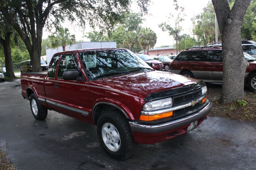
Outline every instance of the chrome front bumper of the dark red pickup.
{"label": "chrome front bumper of the dark red pickup", "polygon": [[144,133],[158,133],[158,132],[163,132],[166,130],[182,127],[184,125],[188,125],[194,121],[197,121],[198,119],[208,115],[211,109],[212,109],[212,103],[208,102],[208,104],[200,111],[194,113],[193,115],[190,115],[175,121],[163,123],[160,125],[142,125],[142,124],[139,124],[138,122],[129,122],[129,124],[132,131],[144,132]]}

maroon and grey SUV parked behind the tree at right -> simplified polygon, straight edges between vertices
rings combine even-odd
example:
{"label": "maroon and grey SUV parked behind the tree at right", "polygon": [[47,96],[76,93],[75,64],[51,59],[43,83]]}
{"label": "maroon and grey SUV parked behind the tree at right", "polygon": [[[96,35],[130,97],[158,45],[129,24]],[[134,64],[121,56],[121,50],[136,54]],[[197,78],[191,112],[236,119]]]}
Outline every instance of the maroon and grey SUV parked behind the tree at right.
{"label": "maroon and grey SUV parked behind the tree at right", "polygon": [[[249,62],[244,76],[245,84],[256,92],[256,59],[244,53]],[[198,47],[181,51],[170,64],[171,73],[201,79],[204,82],[222,83],[222,48]]]}

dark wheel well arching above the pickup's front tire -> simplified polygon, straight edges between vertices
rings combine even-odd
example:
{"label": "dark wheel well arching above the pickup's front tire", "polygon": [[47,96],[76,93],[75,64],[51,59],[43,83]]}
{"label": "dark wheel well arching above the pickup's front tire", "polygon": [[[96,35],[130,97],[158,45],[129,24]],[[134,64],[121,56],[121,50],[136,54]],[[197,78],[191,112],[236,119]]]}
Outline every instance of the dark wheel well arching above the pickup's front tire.
{"label": "dark wheel well arching above the pickup's front tire", "polygon": [[[116,110],[116,111],[120,112],[120,115],[122,115],[122,116],[124,116],[124,114],[125,114],[125,113],[123,114],[123,111],[121,111],[117,107],[101,103],[101,104],[96,105],[93,109],[92,116],[93,116],[94,123],[97,124],[97,121],[98,121],[100,115],[102,115],[104,112],[112,111],[112,110]],[[124,118],[126,118],[126,117],[124,116]]]}

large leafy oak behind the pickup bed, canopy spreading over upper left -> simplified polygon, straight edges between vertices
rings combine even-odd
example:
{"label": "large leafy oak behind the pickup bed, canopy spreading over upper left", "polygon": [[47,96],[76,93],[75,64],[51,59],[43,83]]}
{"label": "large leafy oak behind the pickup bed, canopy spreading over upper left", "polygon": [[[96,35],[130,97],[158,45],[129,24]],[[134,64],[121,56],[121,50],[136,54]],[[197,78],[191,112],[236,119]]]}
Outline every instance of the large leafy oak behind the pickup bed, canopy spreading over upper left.
{"label": "large leafy oak behind the pickup bed, canopy spreading over upper left", "polygon": [[[149,0],[137,0],[146,12]],[[24,41],[33,71],[40,71],[43,28],[60,26],[65,18],[93,28],[111,28],[129,10],[130,0],[1,0],[0,12]]]}

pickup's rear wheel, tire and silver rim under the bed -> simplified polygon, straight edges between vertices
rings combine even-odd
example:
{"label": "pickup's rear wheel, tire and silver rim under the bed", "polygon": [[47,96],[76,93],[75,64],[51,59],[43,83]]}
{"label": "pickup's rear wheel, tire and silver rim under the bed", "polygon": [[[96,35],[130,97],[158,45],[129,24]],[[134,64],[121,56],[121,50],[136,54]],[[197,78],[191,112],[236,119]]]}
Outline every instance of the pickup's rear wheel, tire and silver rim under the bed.
{"label": "pickup's rear wheel, tire and silver rim under the bed", "polygon": [[47,117],[48,109],[42,107],[38,103],[38,99],[36,98],[36,95],[33,93],[30,95],[30,109],[32,111],[32,115],[36,120],[44,120]]}

